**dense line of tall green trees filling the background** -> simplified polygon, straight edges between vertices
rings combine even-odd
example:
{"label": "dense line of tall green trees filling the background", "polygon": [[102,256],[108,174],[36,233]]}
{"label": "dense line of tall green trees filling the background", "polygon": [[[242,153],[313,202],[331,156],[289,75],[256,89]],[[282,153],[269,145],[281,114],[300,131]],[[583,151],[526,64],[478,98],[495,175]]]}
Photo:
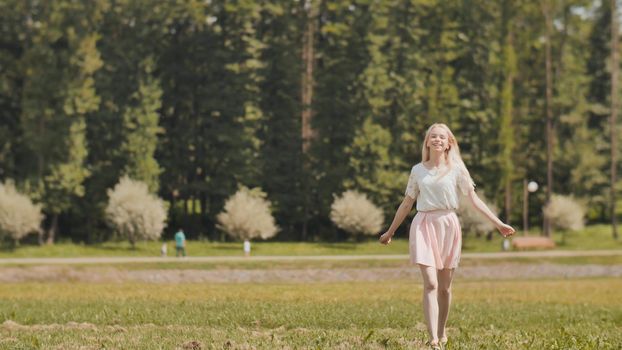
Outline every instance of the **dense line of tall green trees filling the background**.
{"label": "dense line of tall green trees filling the background", "polygon": [[339,239],[335,196],[361,191],[391,217],[427,126],[445,122],[510,223],[523,179],[608,221],[610,5],[0,0],[0,180],[43,205],[41,240],[110,238],[124,175],[167,201],[169,234],[220,239],[216,215],[248,186],[278,239]]}

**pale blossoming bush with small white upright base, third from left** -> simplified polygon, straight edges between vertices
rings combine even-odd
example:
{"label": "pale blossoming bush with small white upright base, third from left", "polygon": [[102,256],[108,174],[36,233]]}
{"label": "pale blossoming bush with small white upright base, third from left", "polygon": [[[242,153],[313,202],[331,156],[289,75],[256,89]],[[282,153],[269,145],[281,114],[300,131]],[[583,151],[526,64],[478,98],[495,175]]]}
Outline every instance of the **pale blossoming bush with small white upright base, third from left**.
{"label": "pale blossoming bush with small white upright base, third from left", "polygon": [[225,202],[224,210],[216,216],[218,228],[235,239],[245,242],[245,253],[250,253],[250,240],[267,239],[278,232],[270,212],[266,194],[256,188],[241,187]]}

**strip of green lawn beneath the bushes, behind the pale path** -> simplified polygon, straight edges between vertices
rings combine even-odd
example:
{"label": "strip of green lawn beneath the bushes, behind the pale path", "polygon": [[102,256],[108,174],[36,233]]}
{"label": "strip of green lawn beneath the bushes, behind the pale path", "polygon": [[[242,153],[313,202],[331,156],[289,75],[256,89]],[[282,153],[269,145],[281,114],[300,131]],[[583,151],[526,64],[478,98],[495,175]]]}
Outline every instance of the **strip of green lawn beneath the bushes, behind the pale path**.
{"label": "strip of green lawn beneath the bushes, behind the pale path", "polygon": [[[520,233],[519,233],[520,234]],[[532,232],[537,234],[537,232]],[[558,249],[594,250],[622,249],[622,239],[611,238],[608,225],[588,226],[581,232],[568,233],[562,244],[562,234],[555,232],[554,240]],[[501,251],[503,238],[496,234],[491,241],[467,235],[464,239],[465,252]],[[52,246],[22,245],[11,249],[0,249],[0,258],[8,257],[79,257],[79,256],[158,256],[162,242],[140,242],[132,249],[127,242],[107,242],[95,245],[57,243]],[[174,242],[168,242],[169,255],[174,254]],[[378,244],[375,239],[366,242],[253,242],[253,255],[365,255],[365,254],[407,254],[407,237],[398,236],[388,246]],[[191,256],[240,256],[240,242],[188,242],[188,254]]]}

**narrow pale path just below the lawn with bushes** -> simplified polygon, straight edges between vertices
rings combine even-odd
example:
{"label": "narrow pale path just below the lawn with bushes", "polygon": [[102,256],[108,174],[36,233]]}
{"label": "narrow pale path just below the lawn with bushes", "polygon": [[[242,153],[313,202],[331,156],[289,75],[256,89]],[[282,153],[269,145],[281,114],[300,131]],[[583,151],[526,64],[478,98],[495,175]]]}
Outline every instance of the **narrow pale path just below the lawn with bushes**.
{"label": "narrow pale path just below the lawn with bushes", "polygon": [[[619,250],[551,250],[529,252],[462,253],[462,259],[508,258],[559,258],[582,256],[617,256]],[[270,255],[270,256],[191,256],[175,257],[74,257],[74,258],[0,258],[0,265],[73,265],[73,264],[125,264],[160,262],[251,262],[251,261],[356,261],[356,260],[408,260],[407,254],[385,255]]]}

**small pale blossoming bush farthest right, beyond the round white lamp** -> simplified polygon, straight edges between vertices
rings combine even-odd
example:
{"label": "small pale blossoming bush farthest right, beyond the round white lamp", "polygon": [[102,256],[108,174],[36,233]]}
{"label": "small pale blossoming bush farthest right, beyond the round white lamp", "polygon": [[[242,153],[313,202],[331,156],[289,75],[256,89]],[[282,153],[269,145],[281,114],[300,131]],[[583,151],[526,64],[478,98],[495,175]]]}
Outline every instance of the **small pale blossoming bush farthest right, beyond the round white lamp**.
{"label": "small pale blossoming bush farthest right, beyond the round white lamp", "polygon": [[571,196],[552,195],[543,212],[557,228],[577,231],[584,226],[585,208]]}

